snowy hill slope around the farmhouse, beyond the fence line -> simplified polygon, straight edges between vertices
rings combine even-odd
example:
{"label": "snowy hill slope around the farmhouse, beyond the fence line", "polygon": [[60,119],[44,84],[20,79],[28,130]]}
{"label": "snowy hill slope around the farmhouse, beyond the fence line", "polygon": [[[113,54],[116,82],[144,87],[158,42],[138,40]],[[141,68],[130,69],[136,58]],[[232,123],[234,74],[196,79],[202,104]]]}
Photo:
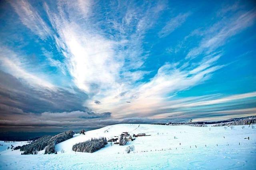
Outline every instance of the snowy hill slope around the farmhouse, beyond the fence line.
{"label": "snowy hill slope around the farmhouse, beyond the fence line", "polygon": [[[210,129],[209,129],[210,128]],[[65,152],[73,152],[72,146],[76,143],[86,141],[91,138],[106,137],[111,139],[119,136],[122,132],[129,132],[130,135],[136,133],[146,133],[145,137],[137,137],[136,140],[128,142],[128,145],[134,145],[136,151],[176,149],[176,147],[190,148],[190,146],[220,146],[220,145],[251,145],[255,143],[255,129],[242,129],[242,126],[235,126],[234,129],[224,129],[224,127],[190,127],[190,126],[165,126],[165,125],[144,125],[141,124],[118,124],[103,127],[93,131],[88,131],[85,135],[76,137],[56,145],[58,153],[63,149]],[[251,140],[245,140],[245,137],[251,137]],[[174,139],[176,137],[177,139]],[[112,145],[110,143],[104,149],[97,152],[106,152],[110,154],[123,153],[127,146]]]}

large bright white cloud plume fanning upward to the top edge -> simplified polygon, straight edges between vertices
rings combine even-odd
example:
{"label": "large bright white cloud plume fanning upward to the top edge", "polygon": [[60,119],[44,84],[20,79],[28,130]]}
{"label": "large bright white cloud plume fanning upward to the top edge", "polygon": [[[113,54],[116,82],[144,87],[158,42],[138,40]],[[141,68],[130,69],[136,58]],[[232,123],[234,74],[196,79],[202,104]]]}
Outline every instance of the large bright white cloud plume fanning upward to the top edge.
{"label": "large bright white cloud plume fanning upward to the top edge", "polygon": [[[108,96],[116,89],[122,92],[121,88],[126,86],[127,82],[132,84],[148,73],[148,71],[132,69],[142,66],[144,62],[142,59],[145,59],[145,56],[142,56],[142,38],[145,31],[154,23],[152,19],[146,17],[146,14],[157,18],[155,14],[162,9],[162,5],[149,8],[144,15],[140,10],[132,13],[127,7],[124,15],[126,19],[123,18],[122,22],[118,22],[115,18],[108,19],[109,23],[115,24],[117,38],[104,36],[106,35],[104,31],[98,28],[99,23],[91,21],[90,18],[87,18],[85,23],[77,18],[70,22],[70,18],[66,15],[72,17],[73,11],[66,15],[63,11],[66,7],[72,8],[72,6],[74,5],[70,6],[69,2],[63,2],[58,4],[57,12],[51,12],[48,4],[44,4],[48,18],[58,34],[58,37],[55,37],[55,41],[58,42],[56,45],[66,57],[68,70],[80,89],[92,96]],[[75,8],[72,9],[76,11]],[[142,17],[140,20],[135,18],[128,21],[127,15]],[[131,24],[134,29],[130,30],[129,34],[122,31],[126,29],[125,25]]]}

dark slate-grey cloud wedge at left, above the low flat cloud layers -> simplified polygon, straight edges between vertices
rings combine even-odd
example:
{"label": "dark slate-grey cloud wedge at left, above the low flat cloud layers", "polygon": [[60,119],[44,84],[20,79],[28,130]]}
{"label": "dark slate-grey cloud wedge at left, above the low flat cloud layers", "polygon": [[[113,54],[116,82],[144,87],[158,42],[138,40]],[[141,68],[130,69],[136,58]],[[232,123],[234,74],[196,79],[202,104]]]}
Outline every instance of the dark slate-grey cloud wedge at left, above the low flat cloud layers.
{"label": "dark slate-grey cloud wedge at left, above the low flat cloud layers", "polygon": [[[42,113],[45,111],[76,111],[86,109],[83,105],[88,96],[79,89],[70,92],[58,88],[54,91],[34,88],[18,78],[0,71],[1,104],[21,109],[24,112]],[[10,111],[12,112],[12,111]],[[1,111],[1,117],[8,113]]]}

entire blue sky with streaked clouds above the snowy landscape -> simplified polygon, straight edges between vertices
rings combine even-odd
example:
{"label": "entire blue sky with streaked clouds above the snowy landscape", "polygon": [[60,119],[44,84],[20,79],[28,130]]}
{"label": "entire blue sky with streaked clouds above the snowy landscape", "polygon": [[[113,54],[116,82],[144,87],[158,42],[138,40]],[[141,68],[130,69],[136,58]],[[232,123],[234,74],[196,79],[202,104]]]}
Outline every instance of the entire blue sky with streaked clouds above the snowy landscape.
{"label": "entire blue sky with streaked clouds above the snowy landscape", "polygon": [[256,115],[255,1],[0,1],[0,127]]}

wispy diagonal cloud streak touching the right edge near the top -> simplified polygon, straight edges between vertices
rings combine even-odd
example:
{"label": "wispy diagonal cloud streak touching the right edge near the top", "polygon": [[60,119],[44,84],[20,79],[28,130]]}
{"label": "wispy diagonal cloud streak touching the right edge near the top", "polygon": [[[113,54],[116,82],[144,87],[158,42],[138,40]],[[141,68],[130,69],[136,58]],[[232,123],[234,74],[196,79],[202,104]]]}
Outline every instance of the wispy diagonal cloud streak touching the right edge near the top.
{"label": "wispy diagonal cloud streak touching the right edge near the top", "polygon": [[202,40],[199,42],[198,47],[194,47],[188,52],[186,58],[193,59],[198,55],[208,55],[214,52],[219,47],[222,47],[230,37],[252,25],[255,19],[255,9],[247,12],[237,12],[229,18],[223,16],[222,20],[213,24],[205,31],[197,30],[192,32],[192,35],[196,34],[202,36]]}

